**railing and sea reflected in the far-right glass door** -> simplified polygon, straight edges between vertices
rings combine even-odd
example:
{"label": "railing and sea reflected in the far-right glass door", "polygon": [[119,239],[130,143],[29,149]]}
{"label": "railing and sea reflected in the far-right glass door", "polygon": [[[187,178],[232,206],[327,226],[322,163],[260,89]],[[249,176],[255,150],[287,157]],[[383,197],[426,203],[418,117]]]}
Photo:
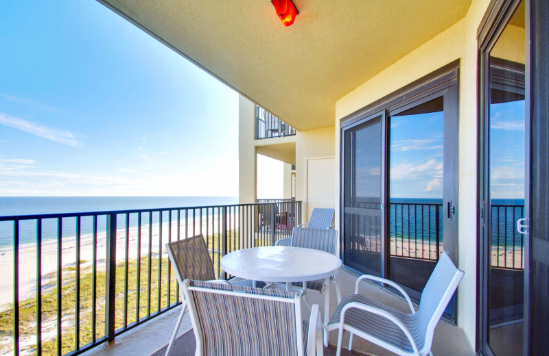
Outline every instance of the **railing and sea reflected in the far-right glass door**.
{"label": "railing and sea reflected in the far-right glass door", "polygon": [[491,205],[491,266],[524,270],[524,235],[517,220],[524,217],[524,205]]}

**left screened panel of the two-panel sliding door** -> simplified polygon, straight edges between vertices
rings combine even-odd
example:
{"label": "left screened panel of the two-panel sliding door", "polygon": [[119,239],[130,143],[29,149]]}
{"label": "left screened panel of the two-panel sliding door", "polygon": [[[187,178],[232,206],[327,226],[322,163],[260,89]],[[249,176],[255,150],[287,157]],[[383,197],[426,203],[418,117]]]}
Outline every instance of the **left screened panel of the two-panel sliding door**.
{"label": "left screened panel of the two-panel sliding door", "polygon": [[384,116],[349,127],[343,139],[344,264],[382,276]]}

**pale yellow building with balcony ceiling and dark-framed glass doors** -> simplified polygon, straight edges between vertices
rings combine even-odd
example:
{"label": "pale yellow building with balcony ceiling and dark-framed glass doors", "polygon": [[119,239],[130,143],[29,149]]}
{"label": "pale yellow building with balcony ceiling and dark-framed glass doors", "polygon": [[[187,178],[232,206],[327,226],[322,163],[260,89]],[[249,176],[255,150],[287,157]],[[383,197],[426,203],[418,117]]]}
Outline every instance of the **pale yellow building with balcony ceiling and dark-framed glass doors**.
{"label": "pale yellow building with balcony ceiling and dark-framed glass doors", "polygon": [[[548,3],[294,2],[283,27],[267,0],[102,0],[240,92],[241,202],[258,153],[294,165],[348,268],[419,297],[449,251],[471,353],[546,355]],[[257,105],[296,135],[256,140]]]}

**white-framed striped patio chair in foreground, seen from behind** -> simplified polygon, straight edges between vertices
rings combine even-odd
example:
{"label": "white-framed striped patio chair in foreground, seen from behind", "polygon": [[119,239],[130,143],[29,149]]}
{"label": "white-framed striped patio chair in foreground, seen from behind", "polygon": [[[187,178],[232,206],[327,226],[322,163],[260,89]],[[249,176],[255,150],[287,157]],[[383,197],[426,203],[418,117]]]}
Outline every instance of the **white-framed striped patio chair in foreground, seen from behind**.
{"label": "white-framed striped patio chair in foreground, seen from behind", "polygon": [[318,304],[302,320],[301,294],[183,282],[196,356],[323,355]]}

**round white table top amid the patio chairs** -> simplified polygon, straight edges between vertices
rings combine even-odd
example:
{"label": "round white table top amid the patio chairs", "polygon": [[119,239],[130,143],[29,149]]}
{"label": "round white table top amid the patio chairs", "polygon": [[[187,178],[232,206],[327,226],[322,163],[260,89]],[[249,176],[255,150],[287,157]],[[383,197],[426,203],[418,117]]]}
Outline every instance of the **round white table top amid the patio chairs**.
{"label": "round white table top amid the patio chairs", "polygon": [[224,255],[221,268],[230,275],[265,282],[304,282],[336,275],[341,259],[324,251],[264,246]]}

